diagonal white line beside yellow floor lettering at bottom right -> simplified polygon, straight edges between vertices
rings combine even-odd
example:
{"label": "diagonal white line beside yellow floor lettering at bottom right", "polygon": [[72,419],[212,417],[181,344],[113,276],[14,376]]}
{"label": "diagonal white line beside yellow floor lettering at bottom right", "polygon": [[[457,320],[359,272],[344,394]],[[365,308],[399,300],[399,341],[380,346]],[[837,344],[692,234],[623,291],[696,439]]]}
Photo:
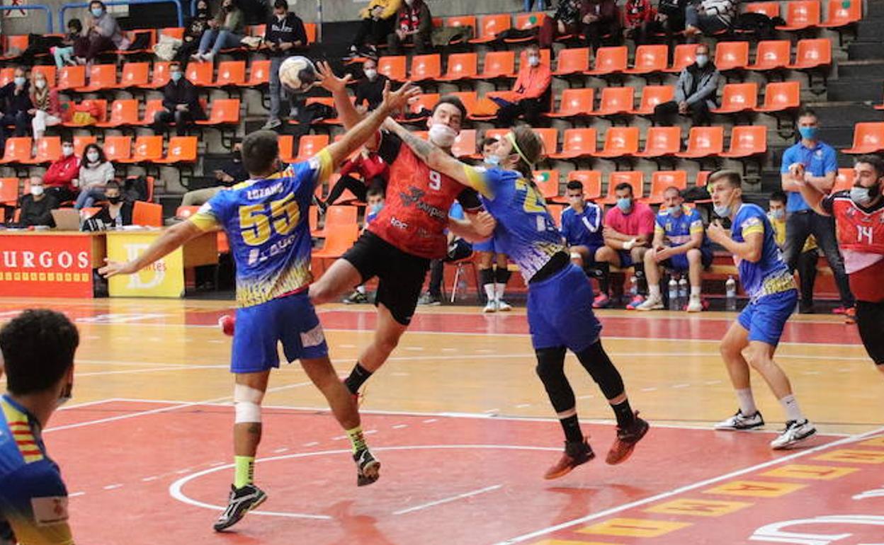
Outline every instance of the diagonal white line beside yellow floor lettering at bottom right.
{"label": "diagonal white line beside yellow floor lettering at bottom right", "polygon": [[530,534],[518,535],[516,537],[509,538],[506,541],[499,541],[498,543],[495,543],[494,545],[511,545],[512,543],[520,543],[522,541],[528,541],[528,540],[534,539],[536,537],[539,537],[541,535],[551,534],[552,532],[557,532],[559,530],[568,528],[570,526],[584,524],[586,522],[589,522],[589,521],[595,520],[595,519],[603,519],[603,518],[607,517],[608,515],[613,515],[614,513],[619,513],[621,511],[628,511],[629,509],[633,509],[633,508],[639,507],[641,505],[646,505],[648,503],[654,503],[659,500],[665,499],[667,497],[677,496],[677,495],[682,494],[684,492],[689,492],[690,490],[696,490],[697,488],[704,488],[709,485],[715,484],[716,482],[727,481],[728,479],[733,479],[734,477],[738,477],[738,476],[744,475],[746,473],[756,472],[758,470],[765,469],[766,467],[778,466],[778,465],[782,464],[783,462],[789,462],[789,461],[794,460],[796,458],[804,458],[805,456],[809,456],[811,454],[816,454],[820,450],[831,449],[833,447],[838,447],[843,444],[856,443],[857,441],[861,441],[861,440],[863,440],[867,437],[870,437],[872,435],[880,434],[881,432],[884,432],[884,428],[873,429],[872,431],[867,431],[867,432],[865,432],[863,434],[859,434],[859,435],[850,435],[848,437],[844,437],[844,438],[839,439],[837,441],[833,441],[832,443],[822,444],[822,445],[819,445],[816,447],[812,447],[811,449],[802,450],[800,452],[796,452],[795,454],[790,454],[788,456],[784,456],[782,458],[776,458],[775,460],[770,460],[770,461],[767,461],[767,462],[764,462],[761,464],[757,464],[755,466],[745,467],[743,469],[739,469],[734,472],[725,473],[723,475],[719,475],[718,477],[713,477],[711,479],[697,481],[697,482],[694,482],[692,484],[685,485],[682,487],[673,488],[671,490],[668,490],[667,492],[662,492],[660,494],[657,494],[657,495],[654,495],[651,497],[646,497],[642,500],[637,500],[635,502],[630,502],[630,503],[623,503],[622,505],[618,505],[617,507],[612,507],[611,509],[606,509],[605,511],[598,511],[598,513],[592,513],[591,515],[587,515],[587,516],[581,517],[579,519],[568,520],[567,522],[563,522],[563,523],[557,524],[555,526],[546,526],[545,528],[537,530],[536,532],[531,532]]}

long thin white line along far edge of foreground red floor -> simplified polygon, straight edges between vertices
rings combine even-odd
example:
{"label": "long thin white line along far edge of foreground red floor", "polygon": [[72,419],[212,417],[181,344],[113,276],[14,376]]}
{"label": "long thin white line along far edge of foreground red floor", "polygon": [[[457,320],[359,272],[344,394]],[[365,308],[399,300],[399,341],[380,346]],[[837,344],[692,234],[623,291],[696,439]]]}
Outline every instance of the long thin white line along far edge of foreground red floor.
{"label": "long thin white line along far edge of foreground red floor", "polygon": [[[119,397],[115,399],[115,401],[128,401],[133,403],[157,403],[168,405],[171,403],[180,403],[179,401],[173,401],[170,399],[136,399],[133,397]],[[204,402],[202,404],[194,405],[211,405],[211,406],[224,406],[229,407],[229,403],[213,403],[213,402]],[[530,406],[530,405],[529,405]],[[278,409],[283,411],[300,411],[303,413],[330,413],[330,409],[328,407],[308,407],[308,406],[300,406],[300,405],[262,405],[264,409]],[[421,417],[439,417],[439,418],[469,418],[469,419],[481,419],[481,420],[512,420],[516,422],[558,422],[559,419],[544,417],[544,416],[500,416],[497,414],[488,414],[488,413],[452,413],[452,412],[440,412],[440,413],[421,413],[414,411],[385,411],[385,410],[372,410],[372,409],[360,409],[360,414],[377,414],[379,416],[413,416],[415,418]],[[435,418],[431,418],[429,420],[423,420],[424,423],[432,423],[435,422]],[[614,423],[614,420],[607,419],[580,419],[583,424],[598,424],[598,425],[611,425]],[[706,430],[706,431],[715,431],[713,428],[713,423],[710,423],[709,426],[700,426],[700,425],[688,425],[688,424],[659,424],[657,422],[651,422],[653,428],[666,428],[666,429],[697,429],[697,430]],[[768,424],[777,424],[777,422],[768,422]],[[849,425],[849,424],[848,424]],[[407,425],[406,425],[407,426]],[[395,427],[394,427],[395,428]],[[733,432],[720,432],[731,434]],[[753,429],[751,431],[740,432],[747,434],[780,434],[781,432],[775,429]],[[837,434],[837,433],[818,433],[817,435],[822,437],[850,437],[850,434]]]}

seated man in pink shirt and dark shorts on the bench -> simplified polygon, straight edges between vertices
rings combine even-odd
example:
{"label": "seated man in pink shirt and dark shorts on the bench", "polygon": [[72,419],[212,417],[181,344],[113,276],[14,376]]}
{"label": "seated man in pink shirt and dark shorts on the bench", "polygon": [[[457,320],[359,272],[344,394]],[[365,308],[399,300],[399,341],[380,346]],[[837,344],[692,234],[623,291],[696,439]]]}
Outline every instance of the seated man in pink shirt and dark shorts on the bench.
{"label": "seated man in pink shirt and dark shorts on the bench", "polygon": [[[627,269],[632,267],[638,279],[639,290],[647,291],[644,282],[644,253],[648,251],[654,236],[655,216],[653,210],[644,202],[636,201],[632,194],[632,185],[623,182],[614,187],[617,206],[605,214],[605,246],[596,252],[594,271],[598,278],[599,293],[592,306],[607,307],[608,275],[610,265]],[[644,284],[644,288],[641,285]],[[644,302],[644,297],[637,295],[629,302],[627,308],[634,309]]]}

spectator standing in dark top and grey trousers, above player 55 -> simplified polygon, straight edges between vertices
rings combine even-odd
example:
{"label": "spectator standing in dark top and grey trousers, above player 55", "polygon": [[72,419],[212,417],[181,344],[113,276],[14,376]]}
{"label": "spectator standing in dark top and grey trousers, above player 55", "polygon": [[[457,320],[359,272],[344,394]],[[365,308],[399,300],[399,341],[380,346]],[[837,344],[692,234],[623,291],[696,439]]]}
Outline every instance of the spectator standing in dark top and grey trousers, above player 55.
{"label": "spectator standing in dark top and grey trousers, above player 55", "polygon": [[264,43],[267,44],[271,57],[271,115],[262,128],[270,130],[282,125],[279,119],[280,105],[283,101],[288,101],[286,88],[279,83],[279,65],[307,47],[304,23],[300,17],[288,11],[286,0],[276,0],[273,3],[273,13],[267,19],[264,31]]}

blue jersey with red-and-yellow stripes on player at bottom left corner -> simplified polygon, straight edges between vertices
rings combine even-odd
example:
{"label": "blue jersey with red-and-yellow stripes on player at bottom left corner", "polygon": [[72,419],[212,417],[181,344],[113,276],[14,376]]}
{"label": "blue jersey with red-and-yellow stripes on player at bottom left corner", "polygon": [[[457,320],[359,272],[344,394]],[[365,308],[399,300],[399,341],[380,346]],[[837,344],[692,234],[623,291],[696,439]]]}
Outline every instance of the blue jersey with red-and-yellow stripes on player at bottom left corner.
{"label": "blue jersey with red-and-yellow stripes on player at bottom left corner", "polygon": [[8,525],[12,542],[67,545],[73,543],[67,519],[67,489],[46,455],[40,423],[0,397],[0,536]]}

